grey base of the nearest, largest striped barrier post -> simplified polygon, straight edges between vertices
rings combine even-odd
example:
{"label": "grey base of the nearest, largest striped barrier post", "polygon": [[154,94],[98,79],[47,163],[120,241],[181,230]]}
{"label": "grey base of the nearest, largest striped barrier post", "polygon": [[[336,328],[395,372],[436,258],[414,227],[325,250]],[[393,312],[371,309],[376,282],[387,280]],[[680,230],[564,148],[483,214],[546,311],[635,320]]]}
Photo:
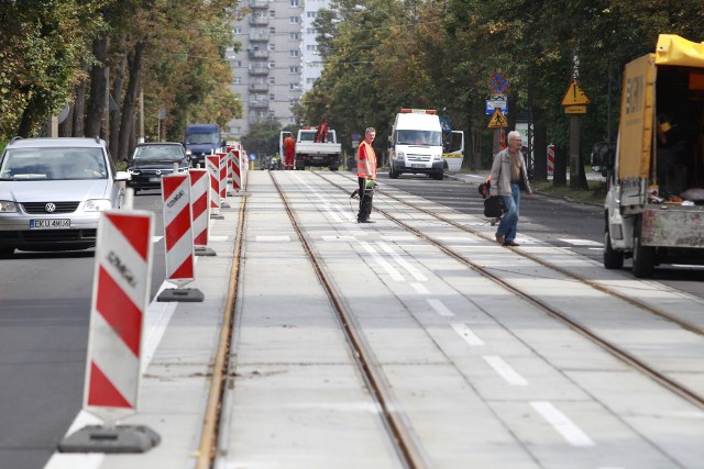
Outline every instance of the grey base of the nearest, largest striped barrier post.
{"label": "grey base of the nearest, largest striped barrier post", "polygon": [[58,444],[61,453],[145,453],[162,437],[144,425],[88,425]]}

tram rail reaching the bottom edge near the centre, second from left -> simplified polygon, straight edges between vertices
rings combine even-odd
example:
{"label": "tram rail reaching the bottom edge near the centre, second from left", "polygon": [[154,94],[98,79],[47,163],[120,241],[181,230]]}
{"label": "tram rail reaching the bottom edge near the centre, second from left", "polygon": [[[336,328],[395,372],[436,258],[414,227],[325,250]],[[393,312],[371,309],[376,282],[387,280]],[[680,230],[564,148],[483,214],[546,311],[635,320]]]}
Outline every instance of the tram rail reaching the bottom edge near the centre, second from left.
{"label": "tram rail reaching the bottom edge near the centre, second from left", "polygon": [[388,386],[385,384],[385,379],[382,372],[378,371],[380,366],[374,359],[374,355],[363,335],[360,333],[360,327],[353,314],[348,310],[342,300],[342,295],[337,292],[334,284],[328,280],[328,276],[324,272],[322,264],[319,261],[318,255],[311,248],[311,243],[308,239],[308,235],[300,227],[296,214],[290,209],[290,204],[284,191],[282,190],[276,177],[270,171],[274,187],[278,191],[279,197],[284,203],[284,209],[288,214],[288,217],[293,224],[294,231],[300,239],[304,250],[308,255],[308,258],[316,271],[316,276],[320,281],[323,290],[328,294],[330,303],[336,311],[336,316],[340,322],[340,326],[344,333],[345,339],[352,350],[361,375],[364,378],[367,389],[376,400],[376,404],[380,407],[380,414],[383,416],[382,421],[386,426],[391,443],[397,450],[399,458],[404,466],[408,469],[425,469],[430,468],[429,458],[425,455],[422,446],[419,444],[410,424],[406,422],[403,414],[394,411],[397,406],[393,405],[394,398],[388,390]]}

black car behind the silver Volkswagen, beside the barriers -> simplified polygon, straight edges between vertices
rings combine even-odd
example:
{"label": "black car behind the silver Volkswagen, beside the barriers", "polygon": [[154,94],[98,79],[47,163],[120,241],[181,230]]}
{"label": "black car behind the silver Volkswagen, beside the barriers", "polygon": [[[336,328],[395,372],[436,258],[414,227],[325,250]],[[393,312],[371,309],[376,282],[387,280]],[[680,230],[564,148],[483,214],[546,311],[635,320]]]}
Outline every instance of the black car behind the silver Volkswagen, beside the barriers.
{"label": "black car behind the silver Volkswagen, beside the barriers", "polygon": [[178,172],[188,172],[190,158],[180,143],[141,143],[128,159],[128,172],[131,175],[128,187],[133,188],[134,192],[161,189],[162,176],[173,174],[174,164],[178,164]]}

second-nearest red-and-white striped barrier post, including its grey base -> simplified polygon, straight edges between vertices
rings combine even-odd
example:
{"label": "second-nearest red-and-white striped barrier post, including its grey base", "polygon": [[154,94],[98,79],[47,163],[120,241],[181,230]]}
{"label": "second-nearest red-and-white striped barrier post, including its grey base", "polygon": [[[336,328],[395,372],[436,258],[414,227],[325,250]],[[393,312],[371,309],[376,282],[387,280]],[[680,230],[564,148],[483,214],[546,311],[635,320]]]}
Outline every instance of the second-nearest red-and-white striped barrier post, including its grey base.
{"label": "second-nearest red-and-white striped barrier post, including its grey base", "polygon": [[204,301],[204,294],[199,290],[182,288],[195,280],[196,270],[188,175],[162,177],[162,198],[166,280],[177,288],[163,290],[156,301]]}

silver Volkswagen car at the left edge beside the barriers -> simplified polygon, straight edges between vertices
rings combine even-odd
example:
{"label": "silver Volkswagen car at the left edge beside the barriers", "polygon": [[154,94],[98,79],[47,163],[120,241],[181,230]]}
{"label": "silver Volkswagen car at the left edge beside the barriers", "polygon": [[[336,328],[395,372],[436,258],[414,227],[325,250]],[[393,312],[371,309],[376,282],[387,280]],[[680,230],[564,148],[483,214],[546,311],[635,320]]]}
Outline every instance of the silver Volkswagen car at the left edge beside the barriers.
{"label": "silver Volkswagen car at the left edge beside the barriers", "polygon": [[95,246],[129,178],[102,139],[13,138],[0,157],[0,256]]}

